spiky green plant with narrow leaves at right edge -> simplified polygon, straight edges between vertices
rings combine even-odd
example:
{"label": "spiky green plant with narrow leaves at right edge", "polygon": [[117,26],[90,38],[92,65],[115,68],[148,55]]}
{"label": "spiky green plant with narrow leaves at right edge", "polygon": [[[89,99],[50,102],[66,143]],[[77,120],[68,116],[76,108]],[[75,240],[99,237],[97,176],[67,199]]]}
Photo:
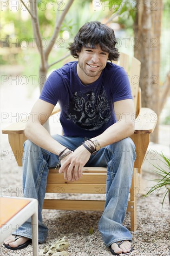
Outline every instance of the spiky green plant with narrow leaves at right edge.
{"label": "spiky green plant with narrow leaves at right edge", "polygon": [[[163,189],[166,188],[167,190],[164,192],[165,195],[163,197],[163,202],[165,199],[165,196],[168,194],[169,190],[170,190],[170,159],[168,159],[166,156],[162,154],[159,154],[161,156],[161,158],[163,160],[161,160],[161,162],[164,163],[165,167],[162,168],[159,165],[153,165],[156,170],[153,170],[153,172],[157,175],[159,175],[160,177],[157,179],[153,179],[152,181],[157,182],[156,185],[154,185],[148,192],[146,195],[144,195],[144,197],[150,195],[152,192],[156,191],[157,189]],[[162,207],[163,207],[163,202],[162,202]]]}

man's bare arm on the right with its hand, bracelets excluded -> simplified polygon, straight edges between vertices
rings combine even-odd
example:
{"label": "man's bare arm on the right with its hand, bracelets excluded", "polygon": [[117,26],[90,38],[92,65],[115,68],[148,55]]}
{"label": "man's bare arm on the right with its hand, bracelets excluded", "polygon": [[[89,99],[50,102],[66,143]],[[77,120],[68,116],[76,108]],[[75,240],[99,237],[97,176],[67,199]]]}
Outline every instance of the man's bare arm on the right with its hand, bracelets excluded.
{"label": "man's bare arm on the right with its hand, bracelets excluded", "polygon": [[[114,110],[115,114],[117,114],[118,122],[107,128],[101,135],[95,137],[101,148],[129,137],[134,133],[134,121],[131,118],[132,114],[135,113],[133,100],[115,102]],[[65,179],[70,181],[78,180],[82,177],[82,168],[88,162],[90,155],[89,151],[81,145],[76,148],[72,155],[65,159],[59,172],[64,172]]]}

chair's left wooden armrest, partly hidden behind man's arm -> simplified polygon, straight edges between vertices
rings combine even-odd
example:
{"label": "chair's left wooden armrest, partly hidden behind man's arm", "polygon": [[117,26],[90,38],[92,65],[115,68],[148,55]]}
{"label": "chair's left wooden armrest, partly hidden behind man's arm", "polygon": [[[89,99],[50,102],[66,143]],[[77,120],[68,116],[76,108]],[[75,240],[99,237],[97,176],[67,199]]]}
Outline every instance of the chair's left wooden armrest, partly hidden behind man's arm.
{"label": "chair's left wooden armrest, partly hidden behind man's arm", "polygon": [[[54,115],[56,113],[58,113],[60,111],[60,108],[55,107],[52,110],[52,114]],[[2,130],[3,134],[24,134],[25,131],[25,127],[26,127],[26,121],[19,121],[16,123],[13,123],[9,126],[7,126],[5,129]]]}

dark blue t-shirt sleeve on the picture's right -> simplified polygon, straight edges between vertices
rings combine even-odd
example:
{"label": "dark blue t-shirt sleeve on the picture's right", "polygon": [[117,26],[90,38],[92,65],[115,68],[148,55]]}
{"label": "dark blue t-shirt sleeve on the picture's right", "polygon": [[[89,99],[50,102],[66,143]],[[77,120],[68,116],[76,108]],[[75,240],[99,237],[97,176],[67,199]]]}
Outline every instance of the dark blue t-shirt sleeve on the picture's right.
{"label": "dark blue t-shirt sleeve on the picture's right", "polygon": [[123,67],[118,67],[112,75],[111,94],[113,102],[133,99],[130,81]]}

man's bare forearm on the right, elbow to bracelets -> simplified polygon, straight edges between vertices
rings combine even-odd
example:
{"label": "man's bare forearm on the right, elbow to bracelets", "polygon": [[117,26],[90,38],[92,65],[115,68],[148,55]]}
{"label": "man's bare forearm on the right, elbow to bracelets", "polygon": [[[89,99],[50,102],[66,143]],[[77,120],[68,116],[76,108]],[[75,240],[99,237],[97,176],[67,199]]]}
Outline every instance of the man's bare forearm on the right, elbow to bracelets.
{"label": "man's bare forearm on the right, elbow to bracelets", "polygon": [[104,148],[109,144],[115,143],[117,141],[123,140],[131,136],[134,133],[134,124],[132,122],[117,122],[111,125],[105,130],[101,135],[95,138],[100,143],[100,147]]}

